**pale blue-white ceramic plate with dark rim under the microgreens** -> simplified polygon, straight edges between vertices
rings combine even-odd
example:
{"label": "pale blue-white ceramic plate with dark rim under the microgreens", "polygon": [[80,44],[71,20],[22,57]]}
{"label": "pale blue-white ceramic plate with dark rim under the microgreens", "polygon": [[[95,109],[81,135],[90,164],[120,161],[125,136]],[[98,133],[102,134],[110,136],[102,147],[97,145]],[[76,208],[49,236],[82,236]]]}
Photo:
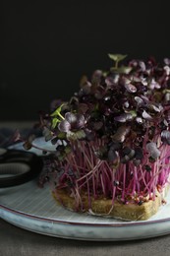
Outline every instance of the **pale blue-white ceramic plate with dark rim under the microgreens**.
{"label": "pale blue-white ceramic plate with dark rim under the microgreens", "polygon": [[[43,144],[40,139],[38,145]],[[18,149],[21,145],[15,146]],[[39,153],[37,153],[39,154]],[[0,217],[33,232],[84,240],[130,240],[170,233],[170,193],[167,204],[143,222],[121,222],[67,211],[58,206],[48,186],[36,181],[0,189]]]}

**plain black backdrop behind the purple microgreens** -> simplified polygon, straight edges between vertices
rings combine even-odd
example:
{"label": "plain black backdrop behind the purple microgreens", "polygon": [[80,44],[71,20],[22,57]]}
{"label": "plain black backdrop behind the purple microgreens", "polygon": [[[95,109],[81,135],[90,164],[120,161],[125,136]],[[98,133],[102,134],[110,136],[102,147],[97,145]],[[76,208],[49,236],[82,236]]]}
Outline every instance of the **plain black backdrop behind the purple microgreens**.
{"label": "plain black backdrop behind the purple microgreens", "polygon": [[170,57],[168,1],[1,2],[0,120],[35,120],[68,99],[107,53]]}

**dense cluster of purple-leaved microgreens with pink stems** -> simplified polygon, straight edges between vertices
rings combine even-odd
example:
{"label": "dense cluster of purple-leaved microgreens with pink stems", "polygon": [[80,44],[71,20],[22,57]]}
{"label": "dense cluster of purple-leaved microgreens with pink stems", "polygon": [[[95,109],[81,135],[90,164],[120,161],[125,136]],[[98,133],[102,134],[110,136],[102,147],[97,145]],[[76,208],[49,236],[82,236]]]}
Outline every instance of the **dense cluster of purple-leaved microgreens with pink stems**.
{"label": "dense cluster of purple-leaved microgreens with pink stems", "polygon": [[[68,102],[56,100],[41,117],[46,141],[56,144],[48,171],[55,193],[67,187],[122,203],[153,199],[169,176],[170,60],[156,63],[109,54],[114,66],[96,70]],[[58,143],[60,140],[60,143]]]}

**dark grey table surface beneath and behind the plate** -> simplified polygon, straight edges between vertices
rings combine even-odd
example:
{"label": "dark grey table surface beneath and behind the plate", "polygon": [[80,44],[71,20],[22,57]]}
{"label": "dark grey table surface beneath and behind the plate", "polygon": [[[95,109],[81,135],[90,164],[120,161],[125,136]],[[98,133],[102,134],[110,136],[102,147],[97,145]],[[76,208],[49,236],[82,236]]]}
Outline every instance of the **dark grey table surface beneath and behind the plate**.
{"label": "dark grey table surface beneath and behind the plate", "polygon": [[[25,128],[33,122],[1,122],[0,127]],[[0,218],[0,256],[170,255],[170,234],[132,241],[82,241],[37,234]]]}

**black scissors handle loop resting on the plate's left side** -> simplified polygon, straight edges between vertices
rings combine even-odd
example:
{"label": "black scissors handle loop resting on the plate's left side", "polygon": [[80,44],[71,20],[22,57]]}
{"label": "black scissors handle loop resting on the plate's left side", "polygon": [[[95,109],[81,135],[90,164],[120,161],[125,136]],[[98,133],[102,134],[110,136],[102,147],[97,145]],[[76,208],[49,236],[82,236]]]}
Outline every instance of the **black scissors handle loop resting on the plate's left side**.
{"label": "black scissors handle loop resting on the plate's left side", "polygon": [[26,183],[34,179],[42,167],[42,158],[34,153],[0,149],[0,188]]}

